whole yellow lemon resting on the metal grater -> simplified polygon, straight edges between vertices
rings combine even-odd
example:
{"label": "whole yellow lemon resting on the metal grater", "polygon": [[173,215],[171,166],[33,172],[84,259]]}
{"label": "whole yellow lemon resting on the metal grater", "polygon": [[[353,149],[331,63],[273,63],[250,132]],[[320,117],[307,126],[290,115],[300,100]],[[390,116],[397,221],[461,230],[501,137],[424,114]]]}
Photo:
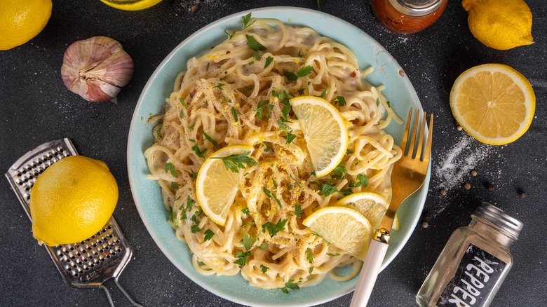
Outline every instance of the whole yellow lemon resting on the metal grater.
{"label": "whole yellow lemon resting on the metal grater", "polygon": [[107,224],[117,202],[118,184],[104,162],[63,158],[32,186],[32,233],[49,246],[86,240]]}

